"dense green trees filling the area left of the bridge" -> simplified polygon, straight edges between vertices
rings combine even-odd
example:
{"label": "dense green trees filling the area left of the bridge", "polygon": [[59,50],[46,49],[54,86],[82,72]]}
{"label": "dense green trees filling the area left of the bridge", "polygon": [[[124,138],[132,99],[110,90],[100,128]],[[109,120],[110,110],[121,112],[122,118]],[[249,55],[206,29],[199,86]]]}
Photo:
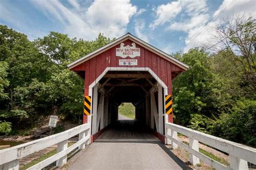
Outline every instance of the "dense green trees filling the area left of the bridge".
{"label": "dense green trees filling the area left of the bridge", "polygon": [[[83,114],[83,79],[66,66],[112,40],[95,41],[50,32],[30,41],[0,25],[0,117],[13,129],[31,128],[50,114],[78,121]],[[20,126],[22,124],[22,126]]]}

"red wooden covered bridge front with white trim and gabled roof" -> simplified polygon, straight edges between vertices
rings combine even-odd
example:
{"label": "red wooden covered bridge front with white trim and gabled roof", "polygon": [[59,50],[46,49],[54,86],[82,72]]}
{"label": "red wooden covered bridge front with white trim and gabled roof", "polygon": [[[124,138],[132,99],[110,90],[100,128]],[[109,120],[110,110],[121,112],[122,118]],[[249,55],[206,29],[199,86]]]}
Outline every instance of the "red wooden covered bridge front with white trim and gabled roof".
{"label": "red wooden covered bridge front with white trim and gabled roof", "polygon": [[[68,67],[84,79],[83,123],[91,124],[91,141],[106,127],[113,130],[103,137],[146,139],[151,129],[165,141],[165,123],[173,117],[172,79],[187,65],[127,33]],[[135,121],[117,121],[123,102],[136,107]]]}

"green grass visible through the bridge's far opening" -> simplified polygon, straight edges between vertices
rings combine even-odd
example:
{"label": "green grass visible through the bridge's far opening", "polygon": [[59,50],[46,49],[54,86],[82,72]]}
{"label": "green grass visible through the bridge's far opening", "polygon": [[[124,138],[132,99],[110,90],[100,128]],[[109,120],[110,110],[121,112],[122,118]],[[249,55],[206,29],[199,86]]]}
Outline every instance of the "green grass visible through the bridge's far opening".
{"label": "green grass visible through the bridge's far opening", "polygon": [[135,107],[132,103],[122,103],[118,107],[118,114],[134,119]]}

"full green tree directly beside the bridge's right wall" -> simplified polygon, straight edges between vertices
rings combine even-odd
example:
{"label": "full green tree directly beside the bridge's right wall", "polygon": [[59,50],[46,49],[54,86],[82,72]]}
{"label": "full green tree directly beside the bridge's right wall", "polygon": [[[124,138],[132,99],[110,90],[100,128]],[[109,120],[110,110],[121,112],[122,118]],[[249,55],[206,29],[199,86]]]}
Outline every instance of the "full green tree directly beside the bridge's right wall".
{"label": "full green tree directly beside the bridge's right wall", "polygon": [[210,56],[203,49],[190,49],[181,59],[190,66],[173,81],[173,108],[175,121],[188,125],[191,115],[211,117],[219,107],[221,84],[215,83]]}

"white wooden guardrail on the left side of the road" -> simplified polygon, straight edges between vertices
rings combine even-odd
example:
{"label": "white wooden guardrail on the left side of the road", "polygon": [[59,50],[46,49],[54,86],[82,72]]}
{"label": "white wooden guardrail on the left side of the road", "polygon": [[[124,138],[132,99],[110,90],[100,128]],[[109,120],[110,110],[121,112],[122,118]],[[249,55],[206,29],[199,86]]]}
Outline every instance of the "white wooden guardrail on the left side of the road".
{"label": "white wooden guardrail on the left side of the road", "polygon": [[[68,147],[68,139],[79,134],[77,143]],[[56,161],[56,166],[61,167],[66,164],[67,154],[75,148],[83,149],[85,144],[90,143],[90,124],[79,125],[75,128],[61,133],[53,134],[49,137],[30,141],[25,144],[0,150],[0,169],[18,169],[19,159],[26,155],[40,151],[46,147],[57,144],[57,153],[45,159],[29,169],[42,169]]]}

